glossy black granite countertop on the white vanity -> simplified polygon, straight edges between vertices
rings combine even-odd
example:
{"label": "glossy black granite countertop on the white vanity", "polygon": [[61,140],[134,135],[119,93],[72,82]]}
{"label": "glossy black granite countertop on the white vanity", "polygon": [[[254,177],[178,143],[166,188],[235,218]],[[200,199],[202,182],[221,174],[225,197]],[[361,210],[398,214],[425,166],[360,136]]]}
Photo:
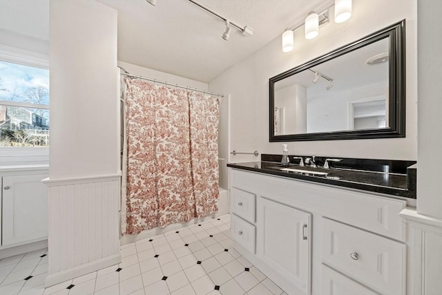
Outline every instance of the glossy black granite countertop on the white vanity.
{"label": "glossy black granite countertop on the white vanity", "polygon": [[[363,191],[373,191],[376,193],[385,193],[392,196],[401,196],[405,198],[416,198],[415,174],[413,177],[407,176],[407,173],[385,173],[381,171],[363,171],[359,169],[331,168],[323,169],[321,167],[311,168],[290,164],[284,167],[280,162],[244,162],[228,163],[227,166],[247,171],[255,171],[265,174],[278,175],[287,178],[296,178],[311,182],[320,182],[331,184],[338,187],[347,187],[351,189],[361,189]],[[302,171],[326,172],[327,175],[312,175],[311,173],[300,173],[292,171],[281,171],[282,168],[298,169]],[[411,173],[415,173],[412,171]],[[408,179],[410,178],[410,180]]]}

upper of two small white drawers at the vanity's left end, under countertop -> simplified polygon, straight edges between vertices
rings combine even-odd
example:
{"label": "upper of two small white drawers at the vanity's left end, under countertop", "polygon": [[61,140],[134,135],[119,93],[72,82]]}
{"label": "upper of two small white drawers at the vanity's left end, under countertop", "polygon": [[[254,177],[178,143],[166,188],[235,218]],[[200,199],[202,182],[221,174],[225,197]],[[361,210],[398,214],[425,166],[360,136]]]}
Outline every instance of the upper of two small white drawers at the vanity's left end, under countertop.
{"label": "upper of two small white drawers at the vanity's left end, under countertop", "polygon": [[231,191],[231,209],[233,213],[245,220],[255,223],[256,214],[256,196],[253,193],[232,188]]}

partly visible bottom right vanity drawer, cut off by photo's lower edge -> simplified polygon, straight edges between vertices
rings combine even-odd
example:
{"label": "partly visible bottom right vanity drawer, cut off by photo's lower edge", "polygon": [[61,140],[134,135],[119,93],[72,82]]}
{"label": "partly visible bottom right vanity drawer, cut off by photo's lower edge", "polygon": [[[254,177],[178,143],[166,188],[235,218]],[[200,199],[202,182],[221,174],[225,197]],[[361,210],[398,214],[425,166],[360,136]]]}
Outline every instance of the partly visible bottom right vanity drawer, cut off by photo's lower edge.
{"label": "partly visible bottom right vanity drawer, cut off by photo's lower edge", "polygon": [[322,295],[378,295],[372,289],[336,272],[323,265],[323,292]]}

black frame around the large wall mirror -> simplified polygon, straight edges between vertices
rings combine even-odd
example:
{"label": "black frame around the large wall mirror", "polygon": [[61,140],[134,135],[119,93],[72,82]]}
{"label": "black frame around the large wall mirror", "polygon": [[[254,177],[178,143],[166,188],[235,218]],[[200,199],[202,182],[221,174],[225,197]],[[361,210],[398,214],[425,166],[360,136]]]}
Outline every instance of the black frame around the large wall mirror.
{"label": "black frame around the large wall mirror", "polygon": [[[312,66],[340,57],[358,48],[389,37],[389,125],[383,129],[361,129],[320,133],[274,135],[274,84]],[[287,70],[269,79],[269,142],[298,142],[313,140],[363,140],[369,138],[405,137],[405,19],[392,26],[378,30],[358,41],[347,44],[307,63]]]}

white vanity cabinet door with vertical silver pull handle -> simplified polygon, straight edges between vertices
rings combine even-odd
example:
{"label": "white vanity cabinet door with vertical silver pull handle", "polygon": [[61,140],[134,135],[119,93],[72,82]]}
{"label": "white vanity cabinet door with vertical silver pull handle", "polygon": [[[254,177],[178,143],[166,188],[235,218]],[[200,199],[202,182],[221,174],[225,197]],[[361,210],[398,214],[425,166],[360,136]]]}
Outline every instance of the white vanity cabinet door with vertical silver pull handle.
{"label": "white vanity cabinet door with vertical silver pull handle", "polygon": [[311,214],[257,200],[256,254],[302,294],[311,289]]}

